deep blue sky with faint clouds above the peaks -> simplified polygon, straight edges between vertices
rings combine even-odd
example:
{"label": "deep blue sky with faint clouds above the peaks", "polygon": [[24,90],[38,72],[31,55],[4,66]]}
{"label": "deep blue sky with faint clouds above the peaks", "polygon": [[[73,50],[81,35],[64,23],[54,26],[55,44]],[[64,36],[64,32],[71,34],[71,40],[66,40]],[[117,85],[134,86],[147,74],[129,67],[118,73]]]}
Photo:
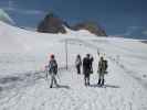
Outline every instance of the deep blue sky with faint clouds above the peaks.
{"label": "deep blue sky with faint clouds above the peaks", "polygon": [[0,0],[19,26],[35,28],[44,15],[53,11],[74,24],[92,20],[109,35],[147,38],[147,0]]}

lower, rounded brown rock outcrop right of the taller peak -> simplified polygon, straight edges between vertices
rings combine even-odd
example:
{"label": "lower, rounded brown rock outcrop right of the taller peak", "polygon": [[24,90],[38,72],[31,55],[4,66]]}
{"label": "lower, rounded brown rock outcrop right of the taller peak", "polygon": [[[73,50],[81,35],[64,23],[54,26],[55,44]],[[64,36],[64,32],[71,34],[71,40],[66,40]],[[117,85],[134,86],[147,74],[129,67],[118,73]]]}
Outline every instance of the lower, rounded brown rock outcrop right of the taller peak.
{"label": "lower, rounded brown rock outcrop right of the taller peak", "polygon": [[107,36],[106,32],[96,22],[91,22],[91,21],[82,22],[74,25],[72,29],[75,31],[87,30],[97,36]]}

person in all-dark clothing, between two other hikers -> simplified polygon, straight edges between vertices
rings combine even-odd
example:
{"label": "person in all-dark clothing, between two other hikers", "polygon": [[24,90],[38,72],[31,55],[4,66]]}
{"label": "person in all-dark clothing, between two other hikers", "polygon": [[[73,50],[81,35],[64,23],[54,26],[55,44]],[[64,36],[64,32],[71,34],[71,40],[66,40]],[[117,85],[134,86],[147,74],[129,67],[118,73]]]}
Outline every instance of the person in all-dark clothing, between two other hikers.
{"label": "person in all-dark clothing, between two other hikers", "polygon": [[84,74],[84,81],[85,86],[90,86],[90,72],[91,72],[91,61],[90,54],[83,58],[83,74]]}

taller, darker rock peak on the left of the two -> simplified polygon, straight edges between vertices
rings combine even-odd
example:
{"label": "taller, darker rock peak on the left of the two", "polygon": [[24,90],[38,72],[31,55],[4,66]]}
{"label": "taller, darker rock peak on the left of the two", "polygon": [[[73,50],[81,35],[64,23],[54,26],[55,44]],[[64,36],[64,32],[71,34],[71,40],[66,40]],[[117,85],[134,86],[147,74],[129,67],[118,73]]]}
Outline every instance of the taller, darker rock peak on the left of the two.
{"label": "taller, darker rock peak on the left of the two", "polygon": [[53,13],[48,14],[38,26],[38,32],[42,33],[66,33],[64,21]]}

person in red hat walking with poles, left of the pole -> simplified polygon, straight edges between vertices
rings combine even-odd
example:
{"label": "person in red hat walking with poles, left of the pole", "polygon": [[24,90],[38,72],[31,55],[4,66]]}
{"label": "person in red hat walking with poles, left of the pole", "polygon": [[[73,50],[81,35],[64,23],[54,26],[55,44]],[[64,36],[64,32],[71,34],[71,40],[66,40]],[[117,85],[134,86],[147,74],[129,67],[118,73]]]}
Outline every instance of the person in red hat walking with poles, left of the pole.
{"label": "person in red hat walking with poles, left of the pole", "polygon": [[54,58],[54,55],[52,54],[51,55],[51,59],[49,62],[49,73],[51,75],[51,85],[50,85],[50,88],[53,87],[53,84],[57,87],[57,81],[56,81],[56,74],[57,74],[57,63]]}

